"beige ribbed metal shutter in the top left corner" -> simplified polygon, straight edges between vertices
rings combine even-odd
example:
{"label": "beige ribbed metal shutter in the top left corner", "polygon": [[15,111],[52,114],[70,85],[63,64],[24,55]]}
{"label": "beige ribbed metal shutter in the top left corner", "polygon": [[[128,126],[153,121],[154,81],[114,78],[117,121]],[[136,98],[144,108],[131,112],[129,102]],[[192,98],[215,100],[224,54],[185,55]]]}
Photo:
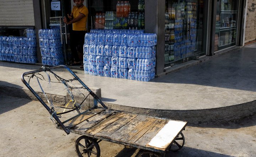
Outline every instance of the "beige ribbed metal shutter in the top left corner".
{"label": "beige ribbed metal shutter in the top left corner", "polygon": [[34,26],[33,0],[0,0],[0,26]]}

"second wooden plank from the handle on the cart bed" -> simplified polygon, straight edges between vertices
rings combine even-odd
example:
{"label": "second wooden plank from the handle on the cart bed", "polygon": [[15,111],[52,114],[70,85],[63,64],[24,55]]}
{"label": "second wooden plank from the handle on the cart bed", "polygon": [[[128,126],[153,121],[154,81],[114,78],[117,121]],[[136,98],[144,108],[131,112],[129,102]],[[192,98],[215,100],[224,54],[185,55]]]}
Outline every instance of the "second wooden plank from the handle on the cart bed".
{"label": "second wooden plank from the handle on the cart bed", "polygon": [[100,114],[97,114],[91,118],[88,119],[87,121],[84,121],[83,123],[78,124],[76,129],[74,129],[77,132],[84,133],[88,129],[92,128],[96,124],[100,123],[101,121],[105,120],[107,117],[111,116],[114,113],[114,111],[111,110],[105,110],[102,111]]}

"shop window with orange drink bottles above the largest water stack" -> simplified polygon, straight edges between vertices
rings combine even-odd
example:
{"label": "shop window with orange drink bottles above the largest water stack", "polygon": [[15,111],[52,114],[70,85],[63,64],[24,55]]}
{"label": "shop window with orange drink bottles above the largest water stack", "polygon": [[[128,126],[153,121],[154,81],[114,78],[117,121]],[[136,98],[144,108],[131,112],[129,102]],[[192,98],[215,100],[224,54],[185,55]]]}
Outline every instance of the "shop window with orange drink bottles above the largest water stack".
{"label": "shop window with orange drink bottles above the largest water stack", "polygon": [[144,0],[88,1],[90,29],[144,29]]}

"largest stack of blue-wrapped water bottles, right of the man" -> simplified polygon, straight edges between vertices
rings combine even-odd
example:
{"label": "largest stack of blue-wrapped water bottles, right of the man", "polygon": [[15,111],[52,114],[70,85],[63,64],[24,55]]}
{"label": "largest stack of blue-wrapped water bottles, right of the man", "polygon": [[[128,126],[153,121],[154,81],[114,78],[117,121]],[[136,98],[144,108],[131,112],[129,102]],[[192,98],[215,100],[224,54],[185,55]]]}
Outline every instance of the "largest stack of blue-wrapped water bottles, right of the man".
{"label": "largest stack of blue-wrapped water bottles, right of the man", "polygon": [[91,30],[85,34],[85,74],[149,81],[155,77],[156,34]]}

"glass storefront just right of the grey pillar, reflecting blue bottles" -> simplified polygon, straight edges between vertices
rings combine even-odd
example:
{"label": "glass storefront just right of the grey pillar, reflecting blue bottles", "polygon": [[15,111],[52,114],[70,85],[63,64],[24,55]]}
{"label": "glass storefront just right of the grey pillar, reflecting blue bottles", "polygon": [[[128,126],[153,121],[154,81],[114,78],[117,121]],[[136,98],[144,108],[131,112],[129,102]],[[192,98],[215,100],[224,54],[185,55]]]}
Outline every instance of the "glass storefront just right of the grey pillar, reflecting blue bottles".
{"label": "glass storefront just right of the grey pillar, reflecting blue bottles", "polygon": [[165,67],[205,55],[203,0],[165,1]]}

